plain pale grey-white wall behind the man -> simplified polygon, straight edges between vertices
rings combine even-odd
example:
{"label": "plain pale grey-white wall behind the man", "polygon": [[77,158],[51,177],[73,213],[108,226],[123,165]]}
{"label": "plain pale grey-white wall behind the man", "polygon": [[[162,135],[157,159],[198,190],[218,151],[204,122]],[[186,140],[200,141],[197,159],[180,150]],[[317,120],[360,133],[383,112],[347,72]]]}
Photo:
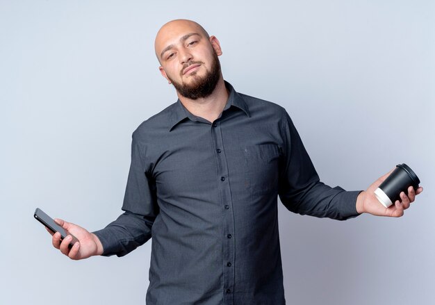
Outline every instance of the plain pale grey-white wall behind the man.
{"label": "plain pale grey-white wall behind the man", "polygon": [[288,304],[435,304],[434,1],[0,1],[0,304],[144,304],[151,242],[70,261],[33,219],[101,229],[122,211],[131,133],[176,101],[154,37],[220,39],[224,78],[284,106],[322,181],[365,189],[397,163],[404,217],[337,222],[279,203]]}

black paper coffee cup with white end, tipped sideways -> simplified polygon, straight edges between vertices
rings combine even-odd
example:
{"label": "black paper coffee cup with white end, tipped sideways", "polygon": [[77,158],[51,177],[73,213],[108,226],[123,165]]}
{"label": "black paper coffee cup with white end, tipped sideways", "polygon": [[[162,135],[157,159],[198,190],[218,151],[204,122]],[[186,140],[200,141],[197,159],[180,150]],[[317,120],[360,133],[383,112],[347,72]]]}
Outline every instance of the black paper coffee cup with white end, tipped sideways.
{"label": "black paper coffee cup with white end, tipped sideways", "polygon": [[396,200],[400,200],[400,192],[408,195],[408,188],[412,186],[417,190],[420,179],[416,173],[405,163],[397,165],[395,170],[388,176],[379,188],[375,190],[375,195],[379,202],[388,208]]}

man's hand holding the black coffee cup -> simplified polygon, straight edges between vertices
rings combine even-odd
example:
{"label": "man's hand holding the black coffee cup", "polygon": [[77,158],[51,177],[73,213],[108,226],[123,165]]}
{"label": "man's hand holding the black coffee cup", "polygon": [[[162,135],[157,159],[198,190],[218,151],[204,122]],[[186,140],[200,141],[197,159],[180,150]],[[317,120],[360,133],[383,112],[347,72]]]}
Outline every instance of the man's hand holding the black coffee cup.
{"label": "man's hand holding the black coffee cup", "polygon": [[[393,169],[394,170],[394,169]],[[380,186],[380,184],[388,177],[391,170],[384,176],[381,176],[377,181],[372,183],[366,191],[361,192],[356,199],[356,211],[358,213],[369,213],[377,216],[388,216],[388,217],[400,217],[403,216],[404,210],[411,206],[411,203],[416,200],[416,195],[423,191],[420,186],[417,190],[414,190],[412,186],[408,188],[408,195],[404,192],[400,193],[400,200],[396,200],[392,206],[386,208],[383,206],[375,196],[375,190]]]}

